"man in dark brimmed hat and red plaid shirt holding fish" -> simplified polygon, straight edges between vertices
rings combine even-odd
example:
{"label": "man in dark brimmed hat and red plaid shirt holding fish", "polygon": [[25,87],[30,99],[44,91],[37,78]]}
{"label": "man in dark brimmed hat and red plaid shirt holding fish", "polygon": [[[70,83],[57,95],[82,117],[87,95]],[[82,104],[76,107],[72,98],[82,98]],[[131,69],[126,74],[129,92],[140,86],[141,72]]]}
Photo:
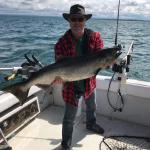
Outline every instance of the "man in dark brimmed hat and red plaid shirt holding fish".
{"label": "man in dark brimmed hat and red plaid shirt holding fish", "polygon": [[[85,28],[85,23],[92,17],[92,14],[86,14],[83,6],[79,4],[71,6],[70,13],[64,13],[63,17],[69,22],[70,29],[66,31],[55,45],[56,61],[63,57],[94,53],[103,48],[100,33]],[[61,79],[55,81],[56,84],[61,82]],[[86,104],[86,128],[98,134],[104,133],[103,128],[96,124],[95,87],[95,76],[63,85],[63,99],[65,101],[61,142],[63,150],[69,150],[71,147],[73,124],[78,100],[81,96],[84,97]]]}

